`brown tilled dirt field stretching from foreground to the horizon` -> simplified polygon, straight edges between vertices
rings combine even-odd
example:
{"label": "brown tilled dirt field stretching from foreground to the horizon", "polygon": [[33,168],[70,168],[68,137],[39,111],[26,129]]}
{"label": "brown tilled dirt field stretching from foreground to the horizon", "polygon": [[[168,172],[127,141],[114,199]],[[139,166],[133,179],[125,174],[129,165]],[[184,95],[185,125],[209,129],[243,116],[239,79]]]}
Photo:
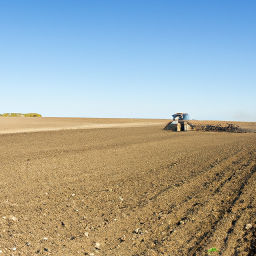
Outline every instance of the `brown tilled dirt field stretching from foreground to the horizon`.
{"label": "brown tilled dirt field stretching from foreground to the horizon", "polygon": [[0,255],[256,255],[256,133],[13,118],[0,117]]}

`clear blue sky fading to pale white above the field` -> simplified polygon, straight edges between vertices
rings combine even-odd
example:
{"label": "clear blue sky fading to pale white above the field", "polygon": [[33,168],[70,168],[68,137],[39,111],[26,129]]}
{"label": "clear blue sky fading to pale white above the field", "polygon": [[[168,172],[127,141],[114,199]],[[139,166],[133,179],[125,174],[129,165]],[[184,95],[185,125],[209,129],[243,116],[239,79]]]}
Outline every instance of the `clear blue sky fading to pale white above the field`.
{"label": "clear blue sky fading to pale white above the field", "polygon": [[5,112],[256,121],[256,1],[1,0]]}

